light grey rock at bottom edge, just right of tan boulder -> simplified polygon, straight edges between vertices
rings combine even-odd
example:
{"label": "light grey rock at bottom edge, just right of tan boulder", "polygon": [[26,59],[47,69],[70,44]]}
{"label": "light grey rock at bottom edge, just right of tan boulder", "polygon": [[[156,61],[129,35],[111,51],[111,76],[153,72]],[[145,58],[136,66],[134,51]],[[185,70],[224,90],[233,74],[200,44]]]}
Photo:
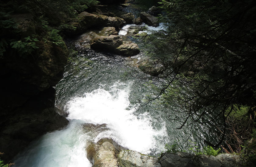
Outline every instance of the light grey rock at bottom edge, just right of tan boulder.
{"label": "light grey rock at bottom edge, just right of tan boulder", "polygon": [[137,151],[121,151],[118,156],[120,167],[161,167],[158,158]]}

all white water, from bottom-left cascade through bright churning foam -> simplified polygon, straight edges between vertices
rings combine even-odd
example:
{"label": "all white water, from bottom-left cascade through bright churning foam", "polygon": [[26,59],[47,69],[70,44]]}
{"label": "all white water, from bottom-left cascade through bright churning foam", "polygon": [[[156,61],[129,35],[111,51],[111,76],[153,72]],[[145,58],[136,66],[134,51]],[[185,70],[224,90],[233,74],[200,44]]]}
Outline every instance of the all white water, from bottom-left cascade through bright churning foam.
{"label": "all white water, from bottom-left cascade through bright churning foam", "polygon": [[[120,88],[120,89],[119,89]],[[112,138],[120,145],[144,154],[164,150],[157,138],[167,136],[165,125],[156,130],[147,114],[134,115],[129,101],[129,87],[117,82],[110,90],[97,89],[83,97],[70,100],[65,110],[69,125],[60,131],[47,133],[16,156],[15,166],[83,166],[91,167],[87,159],[88,139],[97,142]],[[97,137],[83,129],[84,123],[107,124],[108,130]],[[158,143],[157,143],[158,142]]]}

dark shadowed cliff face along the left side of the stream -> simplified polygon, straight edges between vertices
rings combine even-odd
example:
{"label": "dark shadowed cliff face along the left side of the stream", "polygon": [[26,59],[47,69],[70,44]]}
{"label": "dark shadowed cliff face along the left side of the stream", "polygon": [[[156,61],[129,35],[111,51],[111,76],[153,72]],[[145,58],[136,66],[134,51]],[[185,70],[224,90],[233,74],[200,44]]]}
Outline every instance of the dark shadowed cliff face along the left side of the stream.
{"label": "dark shadowed cliff face along the left side of the stream", "polygon": [[[18,22],[20,36],[40,35],[33,19]],[[42,39],[32,54],[9,48],[0,56],[0,151],[11,160],[30,141],[68,121],[55,112],[55,90],[67,61],[67,48]]]}

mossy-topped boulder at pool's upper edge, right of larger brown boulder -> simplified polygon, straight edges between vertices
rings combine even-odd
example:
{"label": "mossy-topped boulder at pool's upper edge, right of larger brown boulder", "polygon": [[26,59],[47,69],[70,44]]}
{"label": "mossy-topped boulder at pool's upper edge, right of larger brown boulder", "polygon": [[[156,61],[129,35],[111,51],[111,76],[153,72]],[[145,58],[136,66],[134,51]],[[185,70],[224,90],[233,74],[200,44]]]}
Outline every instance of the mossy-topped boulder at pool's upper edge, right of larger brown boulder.
{"label": "mossy-topped boulder at pool's upper edge, right of larger brown boulder", "polygon": [[135,43],[124,43],[117,49],[117,53],[123,56],[134,56],[140,53],[139,46]]}

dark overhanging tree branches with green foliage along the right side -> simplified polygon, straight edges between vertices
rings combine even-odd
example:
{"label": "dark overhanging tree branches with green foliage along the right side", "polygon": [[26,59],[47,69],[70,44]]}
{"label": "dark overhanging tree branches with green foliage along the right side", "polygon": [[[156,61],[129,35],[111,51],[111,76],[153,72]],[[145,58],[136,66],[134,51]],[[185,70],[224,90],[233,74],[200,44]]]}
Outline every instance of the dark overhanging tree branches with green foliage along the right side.
{"label": "dark overhanging tree branches with green foliage along the right side", "polygon": [[[159,92],[145,104],[154,100],[173,104],[165,111],[180,123],[177,128],[208,124],[211,133],[218,134],[212,144],[220,145],[227,133],[226,110],[235,104],[255,106],[256,3],[162,0],[159,5],[165,12],[159,17],[165,32],[148,35],[144,46],[151,59],[162,64],[165,70],[158,78],[167,84],[153,83]],[[251,113],[241,109],[229,118],[236,114],[246,123]]]}

